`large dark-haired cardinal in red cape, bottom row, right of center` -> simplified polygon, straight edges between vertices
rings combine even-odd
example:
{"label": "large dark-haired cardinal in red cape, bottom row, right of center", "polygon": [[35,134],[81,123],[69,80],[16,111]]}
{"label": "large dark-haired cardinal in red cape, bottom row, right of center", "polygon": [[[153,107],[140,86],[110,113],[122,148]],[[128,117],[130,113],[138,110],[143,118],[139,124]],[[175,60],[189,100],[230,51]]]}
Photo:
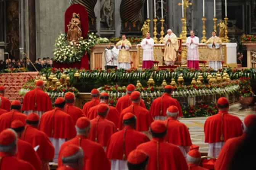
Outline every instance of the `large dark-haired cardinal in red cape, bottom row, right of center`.
{"label": "large dark-haired cardinal in red cape, bottom row, right of center", "polygon": [[187,162],[178,146],[165,142],[167,128],[163,121],[150,125],[152,140],[137,147],[149,154],[147,170],[187,170]]}

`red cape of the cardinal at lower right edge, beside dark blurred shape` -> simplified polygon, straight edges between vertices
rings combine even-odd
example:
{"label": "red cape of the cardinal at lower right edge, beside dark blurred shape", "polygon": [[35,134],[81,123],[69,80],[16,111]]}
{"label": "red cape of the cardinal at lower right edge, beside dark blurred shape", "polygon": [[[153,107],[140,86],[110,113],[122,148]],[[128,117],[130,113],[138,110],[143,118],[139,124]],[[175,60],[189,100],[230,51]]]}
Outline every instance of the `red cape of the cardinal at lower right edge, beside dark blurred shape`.
{"label": "red cape of the cardinal at lower right edge, beside dark blurred shape", "polygon": [[218,159],[214,165],[215,170],[228,170],[233,155],[235,154],[240,143],[245,139],[246,133],[242,136],[234,137],[224,144],[221,148],[221,152],[219,153]]}

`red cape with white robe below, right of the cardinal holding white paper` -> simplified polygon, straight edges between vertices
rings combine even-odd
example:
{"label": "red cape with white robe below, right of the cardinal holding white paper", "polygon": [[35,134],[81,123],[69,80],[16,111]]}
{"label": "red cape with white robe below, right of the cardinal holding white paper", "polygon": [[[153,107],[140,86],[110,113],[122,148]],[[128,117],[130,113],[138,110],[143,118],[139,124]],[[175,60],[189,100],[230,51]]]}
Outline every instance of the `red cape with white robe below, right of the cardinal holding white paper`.
{"label": "red cape with white robe below, right of the cardinal holding white paper", "polygon": [[58,107],[42,115],[38,129],[55,139],[72,139],[76,135],[72,118]]}

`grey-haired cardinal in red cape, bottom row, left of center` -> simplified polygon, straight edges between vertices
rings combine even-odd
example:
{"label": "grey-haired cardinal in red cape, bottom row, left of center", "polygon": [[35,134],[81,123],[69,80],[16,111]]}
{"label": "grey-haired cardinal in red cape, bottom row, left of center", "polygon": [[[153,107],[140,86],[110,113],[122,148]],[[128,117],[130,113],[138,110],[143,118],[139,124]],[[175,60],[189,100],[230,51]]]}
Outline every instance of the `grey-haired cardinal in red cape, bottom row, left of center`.
{"label": "grey-haired cardinal in red cape, bottom row, left of center", "polygon": [[61,145],[58,158],[58,166],[63,166],[62,151],[68,145],[80,146],[85,154],[85,167],[83,170],[110,170],[110,162],[106,153],[99,143],[88,139],[91,129],[91,122],[86,117],[81,117],[76,123],[77,136]]}

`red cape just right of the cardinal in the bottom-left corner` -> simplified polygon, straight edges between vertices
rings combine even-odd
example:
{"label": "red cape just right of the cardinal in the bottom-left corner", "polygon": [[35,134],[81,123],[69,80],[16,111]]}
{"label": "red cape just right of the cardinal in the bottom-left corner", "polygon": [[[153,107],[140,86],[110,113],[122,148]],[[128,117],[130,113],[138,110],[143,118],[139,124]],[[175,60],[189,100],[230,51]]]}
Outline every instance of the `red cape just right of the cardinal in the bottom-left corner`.
{"label": "red cape just right of the cardinal in the bottom-left corner", "polygon": [[23,161],[29,162],[35,170],[41,170],[41,161],[33,146],[21,139],[18,139],[18,153],[17,157]]}

